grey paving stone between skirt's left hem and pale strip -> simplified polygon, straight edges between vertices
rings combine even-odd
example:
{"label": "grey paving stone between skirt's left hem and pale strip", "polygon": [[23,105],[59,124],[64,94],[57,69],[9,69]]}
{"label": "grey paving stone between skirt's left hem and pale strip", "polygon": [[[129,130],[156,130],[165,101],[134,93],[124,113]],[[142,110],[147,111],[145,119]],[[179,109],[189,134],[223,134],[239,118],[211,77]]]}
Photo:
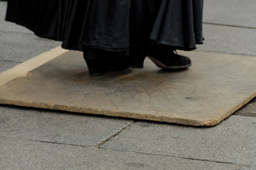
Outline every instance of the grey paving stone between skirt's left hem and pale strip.
{"label": "grey paving stone between skirt's left hem and pale strip", "polygon": [[60,45],[35,35],[0,31],[0,59],[23,62]]}

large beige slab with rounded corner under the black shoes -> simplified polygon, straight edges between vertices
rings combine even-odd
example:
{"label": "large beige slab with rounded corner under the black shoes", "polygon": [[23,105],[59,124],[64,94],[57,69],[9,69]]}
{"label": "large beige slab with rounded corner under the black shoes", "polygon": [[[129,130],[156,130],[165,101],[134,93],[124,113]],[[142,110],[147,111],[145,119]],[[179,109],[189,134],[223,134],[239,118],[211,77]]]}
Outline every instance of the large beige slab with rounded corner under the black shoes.
{"label": "large beige slab with rounded corner under the black shoes", "polygon": [[188,70],[163,72],[146,59],[142,70],[90,77],[82,53],[69,51],[1,86],[0,103],[213,126],[256,96],[256,58],[182,53]]}

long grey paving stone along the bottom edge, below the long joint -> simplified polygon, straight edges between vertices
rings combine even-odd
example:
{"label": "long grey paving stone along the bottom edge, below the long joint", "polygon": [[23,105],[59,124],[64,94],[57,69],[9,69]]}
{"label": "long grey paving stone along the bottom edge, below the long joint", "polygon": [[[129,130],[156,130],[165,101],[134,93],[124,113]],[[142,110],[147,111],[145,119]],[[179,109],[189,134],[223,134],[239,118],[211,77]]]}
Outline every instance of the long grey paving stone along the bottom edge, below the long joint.
{"label": "long grey paving stone along the bottom edge, below the long joint", "polygon": [[184,158],[0,139],[0,169],[239,169]]}

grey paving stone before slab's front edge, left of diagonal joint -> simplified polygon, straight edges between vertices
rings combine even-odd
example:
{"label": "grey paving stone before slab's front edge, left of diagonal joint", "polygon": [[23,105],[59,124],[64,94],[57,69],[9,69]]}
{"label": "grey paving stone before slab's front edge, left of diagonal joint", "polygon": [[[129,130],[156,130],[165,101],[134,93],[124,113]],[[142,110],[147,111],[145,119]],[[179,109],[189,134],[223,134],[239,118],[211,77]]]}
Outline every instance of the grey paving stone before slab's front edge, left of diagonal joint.
{"label": "grey paving stone before slab's front edge, left of diagonal joint", "polygon": [[131,122],[0,106],[0,136],[18,139],[96,146]]}

